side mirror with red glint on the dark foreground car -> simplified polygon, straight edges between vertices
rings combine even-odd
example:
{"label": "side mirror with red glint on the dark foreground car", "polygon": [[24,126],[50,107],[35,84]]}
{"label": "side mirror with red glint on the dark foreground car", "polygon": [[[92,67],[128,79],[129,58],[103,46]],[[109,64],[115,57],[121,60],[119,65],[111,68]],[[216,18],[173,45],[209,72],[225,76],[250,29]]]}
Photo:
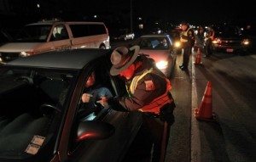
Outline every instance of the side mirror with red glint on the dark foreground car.
{"label": "side mirror with red glint on the dark foreground car", "polygon": [[83,121],[79,123],[77,142],[88,139],[106,139],[114,133],[114,127],[102,121]]}

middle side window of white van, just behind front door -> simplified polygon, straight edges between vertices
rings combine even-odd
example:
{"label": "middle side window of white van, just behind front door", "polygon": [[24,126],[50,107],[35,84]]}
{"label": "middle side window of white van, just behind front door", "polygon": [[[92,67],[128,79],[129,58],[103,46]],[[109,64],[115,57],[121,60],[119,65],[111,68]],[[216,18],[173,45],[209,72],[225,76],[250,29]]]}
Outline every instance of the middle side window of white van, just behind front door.
{"label": "middle side window of white van, just behind front door", "polygon": [[90,36],[89,25],[70,25],[70,29],[73,33],[73,37],[83,37],[83,36]]}

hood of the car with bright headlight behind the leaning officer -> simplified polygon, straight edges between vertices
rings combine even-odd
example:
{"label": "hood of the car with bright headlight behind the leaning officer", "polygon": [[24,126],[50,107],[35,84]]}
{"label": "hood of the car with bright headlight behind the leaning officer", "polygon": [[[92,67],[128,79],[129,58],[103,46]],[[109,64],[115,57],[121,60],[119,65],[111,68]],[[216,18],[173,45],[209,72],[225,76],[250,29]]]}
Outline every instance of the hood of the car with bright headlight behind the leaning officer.
{"label": "hood of the car with bright headlight behind the leaning officer", "polygon": [[148,54],[150,58],[154,59],[155,62],[160,60],[168,59],[170,56],[169,50],[148,50],[148,49],[141,49],[140,53]]}

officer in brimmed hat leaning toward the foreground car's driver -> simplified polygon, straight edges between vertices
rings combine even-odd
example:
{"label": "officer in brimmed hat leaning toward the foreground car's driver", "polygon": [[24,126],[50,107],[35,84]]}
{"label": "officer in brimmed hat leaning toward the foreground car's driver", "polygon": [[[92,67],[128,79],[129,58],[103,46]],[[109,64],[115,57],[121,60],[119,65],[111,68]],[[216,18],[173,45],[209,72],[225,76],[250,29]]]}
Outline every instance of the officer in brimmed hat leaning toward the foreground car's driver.
{"label": "officer in brimmed hat leaning toward the foreground car's driver", "polygon": [[128,96],[111,98],[108,104],[115,110],[138,110],[143,113],[143,128],[154,142],[152,161],[164,161],[170,127],[174,122],[172,111],[175,103],[170,93],[171,83],[151,59],[138,53],[138,46],[113,50],[110,74],[125,78]]}

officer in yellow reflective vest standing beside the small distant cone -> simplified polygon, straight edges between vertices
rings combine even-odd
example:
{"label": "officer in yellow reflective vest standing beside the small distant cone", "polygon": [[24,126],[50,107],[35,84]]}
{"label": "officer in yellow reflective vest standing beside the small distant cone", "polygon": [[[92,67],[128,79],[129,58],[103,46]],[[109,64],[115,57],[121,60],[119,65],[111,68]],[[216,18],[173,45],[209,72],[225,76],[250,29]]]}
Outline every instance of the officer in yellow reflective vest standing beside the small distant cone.
{"label": "officer in yellow reflective vest standing beside the small distant cone", "polygon": [[195,44],[195,37],[194,37],[194,31],[189,28],[188,23],[182,23],[181,24],[182,32],[180,35],[180,42],[182,43],[183,47],[183,64],[179,66],[181,70],[188,70],[189,66],[189,56],[192,52],[192,47]]}

